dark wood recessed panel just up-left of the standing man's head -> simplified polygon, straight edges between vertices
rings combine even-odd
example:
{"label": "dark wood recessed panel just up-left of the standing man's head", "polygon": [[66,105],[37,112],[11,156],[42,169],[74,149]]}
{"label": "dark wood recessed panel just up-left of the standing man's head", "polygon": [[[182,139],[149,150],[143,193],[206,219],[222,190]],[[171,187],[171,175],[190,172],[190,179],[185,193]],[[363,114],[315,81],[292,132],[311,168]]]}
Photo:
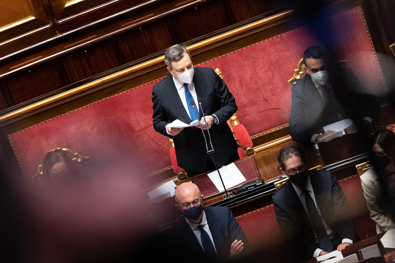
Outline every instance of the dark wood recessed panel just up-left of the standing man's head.
{"label": "dark wood recessed panel just up-left of the standing man's head", "polygon": [[115,39],[119,45],[122,63],[144,58],[174,44],[165,20],[143,26]]}

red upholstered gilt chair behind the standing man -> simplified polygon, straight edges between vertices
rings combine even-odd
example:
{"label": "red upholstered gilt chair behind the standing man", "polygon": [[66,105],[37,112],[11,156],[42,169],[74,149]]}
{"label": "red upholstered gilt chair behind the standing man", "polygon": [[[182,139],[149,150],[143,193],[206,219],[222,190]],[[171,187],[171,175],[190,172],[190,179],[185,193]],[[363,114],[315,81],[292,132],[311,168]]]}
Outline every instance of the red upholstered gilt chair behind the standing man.
{"label": "red upholstered gilt chair behind the standing man", "polygon": [[[220,76],[222,79],[224,79],[224,76],[222,76],[222,71],[220,71],[220,69],[216,68],[215,73],[218,76]],[[245,129],[244,125],[239,123],[236,114],[233,114],[232,117],[227,121],[227,123],[231,131],[233,132],[233,137],[235,138],[237,145],[239,145],[239,148],[237,149],[237,153],[239,153],[240,159],[254,154],[255,153],[253,148],[254,145],[252,144],[251,137],[248,134],[247,130]],[[171,148],[169,152],[171,158],[171,165],[173,166],[173,171],[177,174],[179,181],[184,180],[188,178],[188,175],[185,172],[185,170],[179,167],[177,164],[173,139],[169,139],[169,142],[171,144]]]}

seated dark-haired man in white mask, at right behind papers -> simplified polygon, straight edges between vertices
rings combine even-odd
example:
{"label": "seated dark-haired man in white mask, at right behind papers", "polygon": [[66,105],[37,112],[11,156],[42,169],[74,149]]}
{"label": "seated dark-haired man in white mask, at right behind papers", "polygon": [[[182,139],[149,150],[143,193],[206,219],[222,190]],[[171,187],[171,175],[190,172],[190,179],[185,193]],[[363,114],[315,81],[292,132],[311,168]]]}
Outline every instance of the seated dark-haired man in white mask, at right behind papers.
{"label": "seated dark-haired man in white mask, at right behind papers", "polygon": [[334,132],[321,135],[322,127],[346,118],[353,118],[363,127],[372,124],[380,104],[362,94],[365,89],[351,69],[334,69],[331,72],[336,72],[336,76],[329,78],[327,53],[317,46],[305,50],[303,62],[307,72],[292,87],[288,121],[294,141],[318,142]]}

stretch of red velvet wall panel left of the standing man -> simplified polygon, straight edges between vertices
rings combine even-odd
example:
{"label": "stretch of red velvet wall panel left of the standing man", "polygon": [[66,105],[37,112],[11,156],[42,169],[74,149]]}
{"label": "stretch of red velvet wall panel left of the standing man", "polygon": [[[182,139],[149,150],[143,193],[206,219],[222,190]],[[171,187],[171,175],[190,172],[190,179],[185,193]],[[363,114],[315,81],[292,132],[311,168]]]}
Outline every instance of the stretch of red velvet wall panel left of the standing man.
{"label": "stretch of red velvet wall panel left of the standing man", "polygon": [[11,134],[26,176],[37,172],[45,153],[70,148],[83,156],[122,156],[149,173],[171,165],[170,144],[152,127],[151,91],[138,87]]}

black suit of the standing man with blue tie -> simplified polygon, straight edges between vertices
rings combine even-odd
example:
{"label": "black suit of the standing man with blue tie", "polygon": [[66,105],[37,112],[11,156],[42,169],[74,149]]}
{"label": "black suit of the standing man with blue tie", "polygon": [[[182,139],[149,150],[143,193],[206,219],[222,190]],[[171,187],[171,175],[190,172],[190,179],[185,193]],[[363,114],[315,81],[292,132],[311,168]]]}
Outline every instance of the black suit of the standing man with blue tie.
{"label": "black suit of the standing man with blue tie", "polygon": [[[214,147],[214,158],[218,167],[228,163],[237,152],[237,144],[226,121],[236,112],[237,106],[233,95],[222,80],[211,68],[195,67],[193,82],[196,95],[201,98],[201,106],[205,116],[215,114],[219,124],[210,128],[211,141]],[[166,132],[167,123],[179,119],[190,123],[180,96],[175,88],[173,76],[168,75],[152,88],[152,115],[154,129],[161,134],[173,138]],[[203,116],[199,112],[199,119]],[[208,140],[207,131],[205,131]],[[207,150],[201,129],[184,128],[174,136],[177,163],[185,170],[202,171],[207,166]]]}

